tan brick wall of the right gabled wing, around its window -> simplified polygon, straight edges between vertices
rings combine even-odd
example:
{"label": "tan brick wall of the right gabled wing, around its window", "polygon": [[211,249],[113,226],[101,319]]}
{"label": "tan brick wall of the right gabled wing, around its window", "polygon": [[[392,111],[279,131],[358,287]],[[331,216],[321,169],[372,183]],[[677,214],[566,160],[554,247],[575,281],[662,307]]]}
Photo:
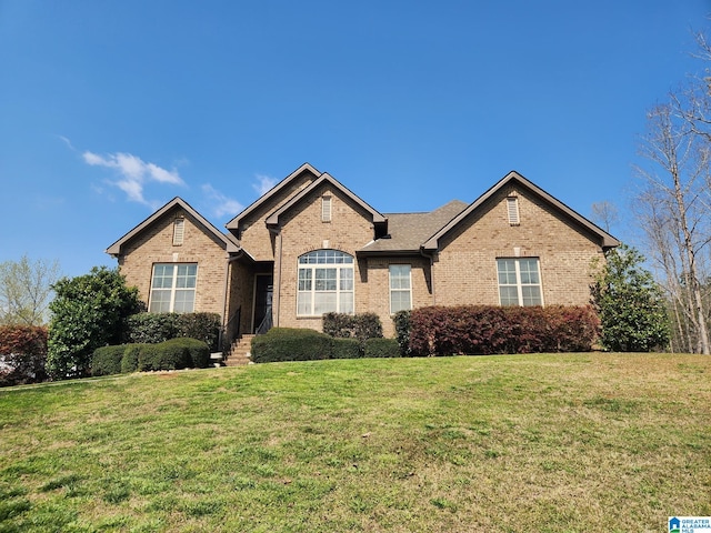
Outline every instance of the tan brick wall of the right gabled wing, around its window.
{"label": "tan brick wall of the right gabled wing, around its window", "polygon": [[[518,194],[520,224],[510,225],[507,195]],[[499,304],[497,258],[540,259],[543,302],[582,305],[590,302],[590,263],[601,258],[594,238],[525,190],[500,191],[477,217],[440,240],[434,263],[434,298],[440,305]]]}

